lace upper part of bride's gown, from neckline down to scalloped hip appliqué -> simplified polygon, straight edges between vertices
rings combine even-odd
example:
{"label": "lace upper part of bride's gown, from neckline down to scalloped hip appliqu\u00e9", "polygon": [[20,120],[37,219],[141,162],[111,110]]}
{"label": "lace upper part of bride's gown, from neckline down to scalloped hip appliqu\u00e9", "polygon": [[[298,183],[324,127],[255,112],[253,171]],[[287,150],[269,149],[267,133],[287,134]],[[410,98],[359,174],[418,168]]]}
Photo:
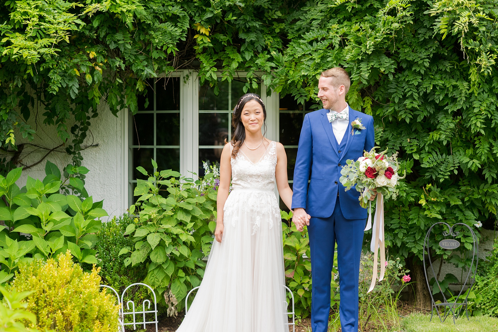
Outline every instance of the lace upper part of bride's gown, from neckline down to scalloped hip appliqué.
{"label": "lace upper part of bride's gown, from neckline down to scalloped hip appliqu\u00e9", "polygon": [[276,143],[270,142],[266,152],[253,163],[239,150],[232,165],[232,192],[225,202],[224,222],[237,227],[245,221],[252,226],[252,235],[264,225],[273,228],[280,221],[280,208],[273,192],[277,165]]}

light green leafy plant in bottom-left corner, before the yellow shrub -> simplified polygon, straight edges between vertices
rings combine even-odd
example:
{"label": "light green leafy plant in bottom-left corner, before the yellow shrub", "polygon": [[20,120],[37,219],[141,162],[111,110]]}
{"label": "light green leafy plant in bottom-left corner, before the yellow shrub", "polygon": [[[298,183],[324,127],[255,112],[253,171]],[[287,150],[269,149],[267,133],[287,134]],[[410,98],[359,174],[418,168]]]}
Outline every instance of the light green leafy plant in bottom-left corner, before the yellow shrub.
{"label": "light green leafy plant in bottom-left corner, before the yellow shrub", "polygon": [[0,286],[0,293],[3,295],[3,301],[0,302],[0,331],[8,332],[35,332],[36,330],[27,329],[23,322],[36,323],[36,317],[24,310],[27,303],[21,302],[31,292],[17,293],[7,292]]}

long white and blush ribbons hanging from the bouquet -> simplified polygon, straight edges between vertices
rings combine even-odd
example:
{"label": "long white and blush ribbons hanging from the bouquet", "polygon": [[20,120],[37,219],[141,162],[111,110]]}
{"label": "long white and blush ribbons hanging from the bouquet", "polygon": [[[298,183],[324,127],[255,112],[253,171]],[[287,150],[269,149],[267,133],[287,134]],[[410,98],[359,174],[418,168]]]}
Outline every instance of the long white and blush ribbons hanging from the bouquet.
{"label": "long white and blush ribbons hanging from the bouquet", "polygon": [[[365,230],[369,230],[370,228],[372,228],[372,205],[370,206],[369,221]],[[374,252],[373,274],[372,283],[370,284],[370,289],[368,292],[371,292],[373,290],[373,287],[375,287],[375,282],[377,280],[378,249],[380,249],[380,275],[378,277],[378,281],[381,281],[382,279],[384,279],[385,273],[384,197],[381,193],[377,194],[377,204],[375,207],[375,215],[373,216],[372,242],[370,243],[370,250]]]}

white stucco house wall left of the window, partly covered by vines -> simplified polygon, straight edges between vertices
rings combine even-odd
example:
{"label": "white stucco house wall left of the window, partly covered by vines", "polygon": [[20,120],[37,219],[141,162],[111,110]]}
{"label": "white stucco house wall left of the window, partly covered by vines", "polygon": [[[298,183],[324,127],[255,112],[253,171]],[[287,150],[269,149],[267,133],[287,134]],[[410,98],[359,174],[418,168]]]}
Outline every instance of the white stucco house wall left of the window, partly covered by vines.
{"label": "white stucco house wall left of the window, partly covered by vines", "polygon": [[[57,137],[55,126],[43,124],[44,117],[42,107],[33,110],[28,123],[36,130],[35,139],[29,142],[22,139],[20,134],[16,133],[16,144],[32,143],[45,148],[52,149],[59,144],[61,140]],[[104,199],[104,209],[108,212],[109,218],[124,213],[127,207],[127,111],[121,111],[118,117],[115,117],[105,102],[98,107],[99,116],[90,120],[91,126],[88,137],[84,142],[85,145],[98,144],[95,147],[89,147],[82,151],[82,166],[87,167],[90,171],[86,174],[85,188],[89,195],[93,196],[94,201]],[[68,129],[70,126],[68,125]],[[72,137],[70,138],[70,140]],[[71,156],[65,152],[65,147],[61,147],[50,153],[45,160],[36,166],[28,168],[22,172],[17,181],[19,186],[24,186],[27,176],[43,179],[45,177],[46,161],[54,163],[59,169],[67,166],[71,162]],[[32,165],[39,161],[47,150],[39,149],[33,146],[25,146],[20,155],[22,165]],[[5,156],[5,153],[0,154]],[[13,154],[7,154],[7,160]],[[20,165],[19,165],[20,166]],[[103,220],[107,220],[104,217]]]}

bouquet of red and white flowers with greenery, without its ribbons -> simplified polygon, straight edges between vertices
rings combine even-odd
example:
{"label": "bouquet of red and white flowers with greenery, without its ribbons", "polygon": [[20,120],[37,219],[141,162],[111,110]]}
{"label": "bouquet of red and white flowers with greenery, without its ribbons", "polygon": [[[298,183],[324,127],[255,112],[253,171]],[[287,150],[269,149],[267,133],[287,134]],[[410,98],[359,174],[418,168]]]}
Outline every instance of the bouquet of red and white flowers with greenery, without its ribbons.
{"label": "bouquet of red and white flowers with greenery, without its ribbons", "polygon": [[374,194],[373,189],[385,198],[396,199],[399,192],[396,189],[398,180],[404,178],[404,176],[399,177],[397,173],[399,169],[397,153],[387,156],[386,150],[378,154],[375,153],[375,148],[378,147],[365,152],[356,162],[348,159],[347,165],[341,169],[342,176],[339,180],[346,190],[356,184],[356,190],[361,192],[359,200],[363,208],[367,207],[370,196]]}

